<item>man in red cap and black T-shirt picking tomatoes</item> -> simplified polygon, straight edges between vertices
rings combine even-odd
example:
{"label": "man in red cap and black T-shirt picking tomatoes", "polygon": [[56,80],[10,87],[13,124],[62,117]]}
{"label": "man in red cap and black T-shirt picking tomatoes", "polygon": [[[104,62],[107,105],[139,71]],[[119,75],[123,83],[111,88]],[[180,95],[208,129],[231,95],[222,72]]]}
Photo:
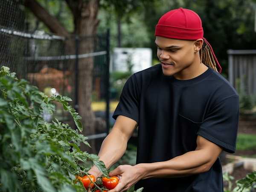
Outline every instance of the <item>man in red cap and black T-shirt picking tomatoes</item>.
{"label": "man in red cap and black T-shirt picking tomatoes", "polygon": [[[128,79],[113,115],[116,123],[99,152],[111,167],[139,125],[137,164],[110,172],[120,180],[109,192],[136,183],[135,189],[145,192],[223,192],[218,156],[236,150],[239,96],[216,72],[194,11],[169,11],[155,36],[160,64]],[[90,173],[101,175],[96,167]]]}

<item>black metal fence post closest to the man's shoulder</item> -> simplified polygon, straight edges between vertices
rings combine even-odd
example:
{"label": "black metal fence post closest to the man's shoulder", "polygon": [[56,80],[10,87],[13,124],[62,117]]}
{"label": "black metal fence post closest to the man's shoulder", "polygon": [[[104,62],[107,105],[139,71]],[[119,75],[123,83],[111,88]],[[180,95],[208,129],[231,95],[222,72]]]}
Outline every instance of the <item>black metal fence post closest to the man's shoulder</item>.
{"label": "black metal fence post closest to the man's shoulder", "polygon": [[110,60],[110,33],[107,30],[107,65],[106,65],[106,133],[109,133],[109,60]]}

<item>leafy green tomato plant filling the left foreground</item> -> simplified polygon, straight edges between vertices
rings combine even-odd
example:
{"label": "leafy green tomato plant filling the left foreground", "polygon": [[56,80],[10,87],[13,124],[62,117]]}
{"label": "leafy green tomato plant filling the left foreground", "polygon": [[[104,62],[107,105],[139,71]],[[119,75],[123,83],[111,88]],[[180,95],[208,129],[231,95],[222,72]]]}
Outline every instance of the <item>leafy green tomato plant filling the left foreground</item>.
{"label": "leafy green tomato plant filling the left foreground", "polygon": [[[86,191],[76,175],[88,168],[78,162],[93,161],[108,176],[105,164],[95,154],[79,150],[80,143],[90,146],[79,134],[81,117],[68,105],[66,96],[46,96],[24,79],[18,80],[9,68],[0,71],[0,191],[80,192]],[[60,102],[73,116],[79,130],[57,119],[42,119],[43,109],[52,114]]]}

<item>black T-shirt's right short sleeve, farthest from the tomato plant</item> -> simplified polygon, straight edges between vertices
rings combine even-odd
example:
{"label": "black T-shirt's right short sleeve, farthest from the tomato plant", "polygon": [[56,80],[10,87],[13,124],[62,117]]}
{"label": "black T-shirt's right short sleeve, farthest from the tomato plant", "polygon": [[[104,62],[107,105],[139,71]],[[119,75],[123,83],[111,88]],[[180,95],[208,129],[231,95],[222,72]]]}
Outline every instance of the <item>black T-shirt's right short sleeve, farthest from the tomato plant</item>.
{"label": "black T-shirt's right short sleeve, farthest from the tomato plant", "polygon": [[216,104],[201,124],[197,135],[224,148],[236,151],[236,137],[239,121],[239,96],[231,96]]}

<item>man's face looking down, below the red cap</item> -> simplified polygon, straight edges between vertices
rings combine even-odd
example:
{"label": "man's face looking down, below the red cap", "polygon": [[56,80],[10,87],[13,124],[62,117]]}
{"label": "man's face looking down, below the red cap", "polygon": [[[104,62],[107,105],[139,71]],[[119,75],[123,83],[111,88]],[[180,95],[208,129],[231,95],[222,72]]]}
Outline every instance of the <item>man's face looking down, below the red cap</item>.
{"label": "man's face looking down, below the red cap", "polygon": [[189,73],[195,62],[195,42],[156,37],[157,57],[161,62],[165,76]]}

